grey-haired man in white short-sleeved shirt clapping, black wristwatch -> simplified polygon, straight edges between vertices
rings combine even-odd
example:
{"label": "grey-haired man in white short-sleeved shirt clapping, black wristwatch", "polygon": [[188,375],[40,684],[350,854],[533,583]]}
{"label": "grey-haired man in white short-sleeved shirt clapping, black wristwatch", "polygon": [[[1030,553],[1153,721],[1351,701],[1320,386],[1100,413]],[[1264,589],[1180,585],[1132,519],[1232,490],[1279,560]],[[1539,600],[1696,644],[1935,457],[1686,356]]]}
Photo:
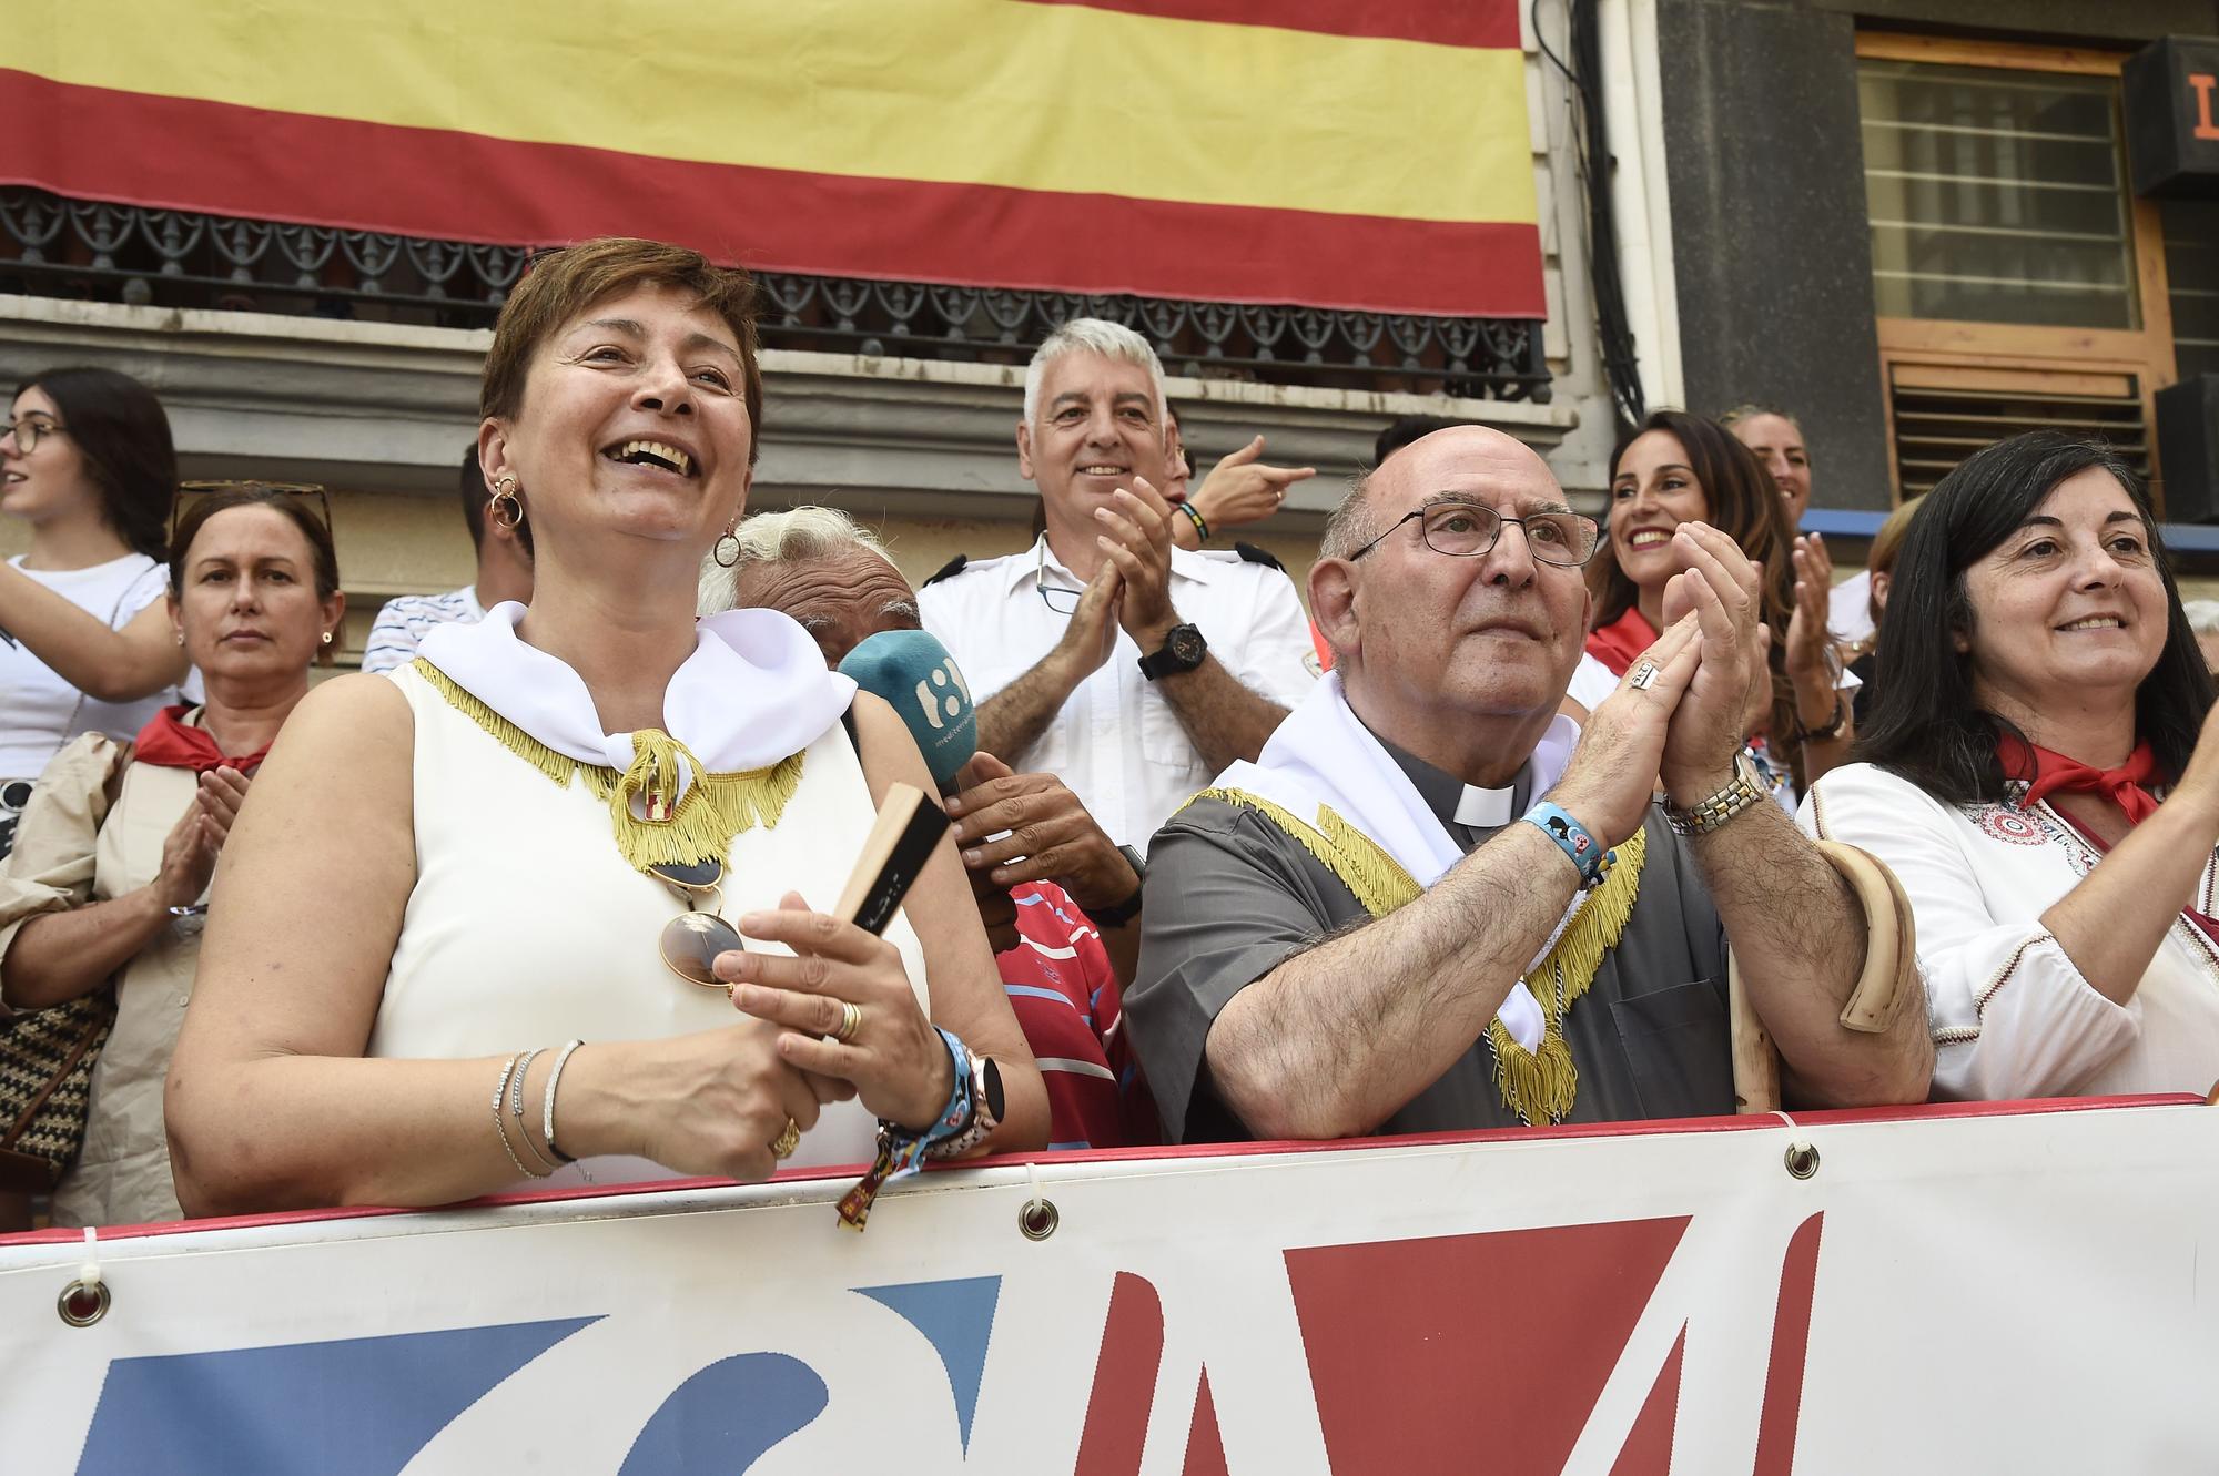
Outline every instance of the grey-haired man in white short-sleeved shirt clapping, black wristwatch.
{"label": "grey-haired man in white short-sleeved shirt clapping, black wristwatch", "polygon": [[1163,366],[1129,328],[1074,319],[1041,344],[1016,461],[1047,532],[934,576],[925,629],[972,685],[979,747],[1054,773],[1145,849],[1307,696],[1309,618],[1269,554],[1172,545]]}

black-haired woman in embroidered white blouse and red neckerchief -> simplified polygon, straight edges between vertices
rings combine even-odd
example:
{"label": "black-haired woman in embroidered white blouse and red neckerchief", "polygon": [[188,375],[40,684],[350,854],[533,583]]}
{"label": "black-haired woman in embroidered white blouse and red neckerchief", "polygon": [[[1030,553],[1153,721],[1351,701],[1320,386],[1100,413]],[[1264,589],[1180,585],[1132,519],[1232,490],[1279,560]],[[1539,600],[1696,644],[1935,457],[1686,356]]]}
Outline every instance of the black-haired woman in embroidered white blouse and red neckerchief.
{"label": "black-haired woman in embroidered white blouse and red neckerchief", "polygon": [[1860,760],[1802,822],[1917,918],[1935,1095],[2219,1079],[2219,736],[2141,483],[2059,432],[1975,452],[1895,558]]}

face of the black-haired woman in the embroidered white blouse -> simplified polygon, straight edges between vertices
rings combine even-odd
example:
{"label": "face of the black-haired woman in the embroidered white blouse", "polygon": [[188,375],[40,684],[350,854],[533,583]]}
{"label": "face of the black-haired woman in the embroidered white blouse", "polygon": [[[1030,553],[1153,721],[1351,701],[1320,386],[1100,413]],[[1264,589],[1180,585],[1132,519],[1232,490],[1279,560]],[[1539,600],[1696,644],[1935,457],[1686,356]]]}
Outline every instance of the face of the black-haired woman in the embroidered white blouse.
{"label": "face of the black-haired woman in the embroidered white blouse", "polygon": [[2150,530],[2104,468],[2057,483],[1964,581],[1973,629],[1957,649],[1973,656],[1979,703],[2013,720],[2090,696],[2132,707],[2166,649]]}

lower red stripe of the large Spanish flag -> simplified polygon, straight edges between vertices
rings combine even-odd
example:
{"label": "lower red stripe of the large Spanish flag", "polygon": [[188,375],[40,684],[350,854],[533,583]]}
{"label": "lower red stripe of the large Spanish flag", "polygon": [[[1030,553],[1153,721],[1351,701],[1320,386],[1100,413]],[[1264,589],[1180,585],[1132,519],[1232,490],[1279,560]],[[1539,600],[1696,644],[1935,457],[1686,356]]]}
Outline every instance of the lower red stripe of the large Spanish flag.
{"label": "lower red stripe of the large Spanish flag", "polygon": [[[55,126],[69,120],[69,126]],[[0,184],[459,242],[592,235],[721,262],[1052,293],[1544,317],[1540,230],[688,164],[0,69]]]}

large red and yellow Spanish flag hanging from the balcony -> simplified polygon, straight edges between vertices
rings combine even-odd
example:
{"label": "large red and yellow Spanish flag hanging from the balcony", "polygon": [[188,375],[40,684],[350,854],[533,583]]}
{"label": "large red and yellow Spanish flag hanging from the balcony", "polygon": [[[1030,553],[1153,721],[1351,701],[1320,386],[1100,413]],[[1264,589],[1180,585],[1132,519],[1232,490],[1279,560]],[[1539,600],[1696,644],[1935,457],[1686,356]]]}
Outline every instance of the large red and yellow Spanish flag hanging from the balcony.
{"label": "large red and yellow Spanish flag hanging from the balcony", "polygon": [[1544,315],[1518,0],[38,0],[0,62],[78,199]]}

